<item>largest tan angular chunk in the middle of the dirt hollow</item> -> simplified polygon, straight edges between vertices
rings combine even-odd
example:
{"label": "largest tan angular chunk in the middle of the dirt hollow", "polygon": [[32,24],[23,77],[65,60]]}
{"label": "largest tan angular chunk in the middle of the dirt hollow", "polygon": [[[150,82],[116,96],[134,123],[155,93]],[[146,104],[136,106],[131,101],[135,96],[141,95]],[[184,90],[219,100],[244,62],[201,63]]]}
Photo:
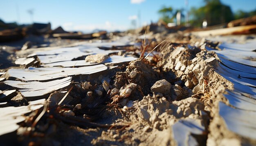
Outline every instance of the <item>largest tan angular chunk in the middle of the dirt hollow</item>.
{"label": "largest tan angular chunk in the middle of the dirt hollow", "polygon": [[164,80],[159,80],[155,82],[155,84],[151,87],[151,90],[154,93],[168,93],[170,92],[171,89],[171,83],[168,81]]}

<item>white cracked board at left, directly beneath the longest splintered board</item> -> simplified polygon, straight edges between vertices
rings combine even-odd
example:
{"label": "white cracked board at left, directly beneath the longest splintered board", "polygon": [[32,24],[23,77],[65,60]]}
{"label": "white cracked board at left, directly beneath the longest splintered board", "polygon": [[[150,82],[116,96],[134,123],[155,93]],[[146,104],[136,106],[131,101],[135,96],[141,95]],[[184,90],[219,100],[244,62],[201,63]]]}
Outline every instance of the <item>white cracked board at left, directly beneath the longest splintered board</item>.
{"label": "white cracked board at left, directly beneath the longest splintered board", "polygon": [[53,80],[49,82],[21,82],[21,81],[4,81],[4,84],[20,88],[20,93],[24,97],[36,97],[52,93],[53,91],[64,88],[71,83],[72,77],[65,77],[60,80]]}

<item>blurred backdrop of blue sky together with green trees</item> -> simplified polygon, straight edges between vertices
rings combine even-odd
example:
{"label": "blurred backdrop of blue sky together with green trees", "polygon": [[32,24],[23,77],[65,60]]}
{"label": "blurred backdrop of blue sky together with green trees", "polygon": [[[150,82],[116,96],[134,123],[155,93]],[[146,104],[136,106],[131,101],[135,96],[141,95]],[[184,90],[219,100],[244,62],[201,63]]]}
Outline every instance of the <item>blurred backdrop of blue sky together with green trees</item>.
{"label": "blurred backdrop of blue sky together with green trees", "polygon": [[0,31],[33,23],[83,33],[126,31],[159,20],[203,27],[253,15],[256,0],[2,0]]}

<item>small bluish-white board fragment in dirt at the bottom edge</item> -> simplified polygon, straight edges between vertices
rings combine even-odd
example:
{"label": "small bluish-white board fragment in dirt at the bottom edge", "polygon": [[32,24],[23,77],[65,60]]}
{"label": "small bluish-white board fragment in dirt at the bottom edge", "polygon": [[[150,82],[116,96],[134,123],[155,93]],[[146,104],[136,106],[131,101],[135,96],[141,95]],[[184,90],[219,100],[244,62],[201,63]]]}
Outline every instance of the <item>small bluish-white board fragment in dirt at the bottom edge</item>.
{"label": "small bluish-white board fragment in dirt at the bottom edge", "polygon": [[196,146],[199,144],[191,134],[202,135],[204,129],[199,119],[180,119],[173,124],[173,136],[178,146]]}

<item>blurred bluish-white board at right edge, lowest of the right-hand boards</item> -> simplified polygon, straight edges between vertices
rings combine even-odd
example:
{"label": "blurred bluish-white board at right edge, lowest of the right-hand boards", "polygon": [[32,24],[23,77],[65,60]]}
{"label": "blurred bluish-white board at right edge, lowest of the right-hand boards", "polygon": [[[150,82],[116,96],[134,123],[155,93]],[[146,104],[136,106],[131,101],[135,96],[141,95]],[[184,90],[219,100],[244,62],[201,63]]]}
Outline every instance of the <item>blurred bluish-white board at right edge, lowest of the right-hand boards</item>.
{"label": "blurred bluish-white board at right edge, lowest of the right-hand boards", "polygon": [[238,135],[256,139],[256,112],[245,111],[219,102],[219,115],[224,119],[227,128]]}

